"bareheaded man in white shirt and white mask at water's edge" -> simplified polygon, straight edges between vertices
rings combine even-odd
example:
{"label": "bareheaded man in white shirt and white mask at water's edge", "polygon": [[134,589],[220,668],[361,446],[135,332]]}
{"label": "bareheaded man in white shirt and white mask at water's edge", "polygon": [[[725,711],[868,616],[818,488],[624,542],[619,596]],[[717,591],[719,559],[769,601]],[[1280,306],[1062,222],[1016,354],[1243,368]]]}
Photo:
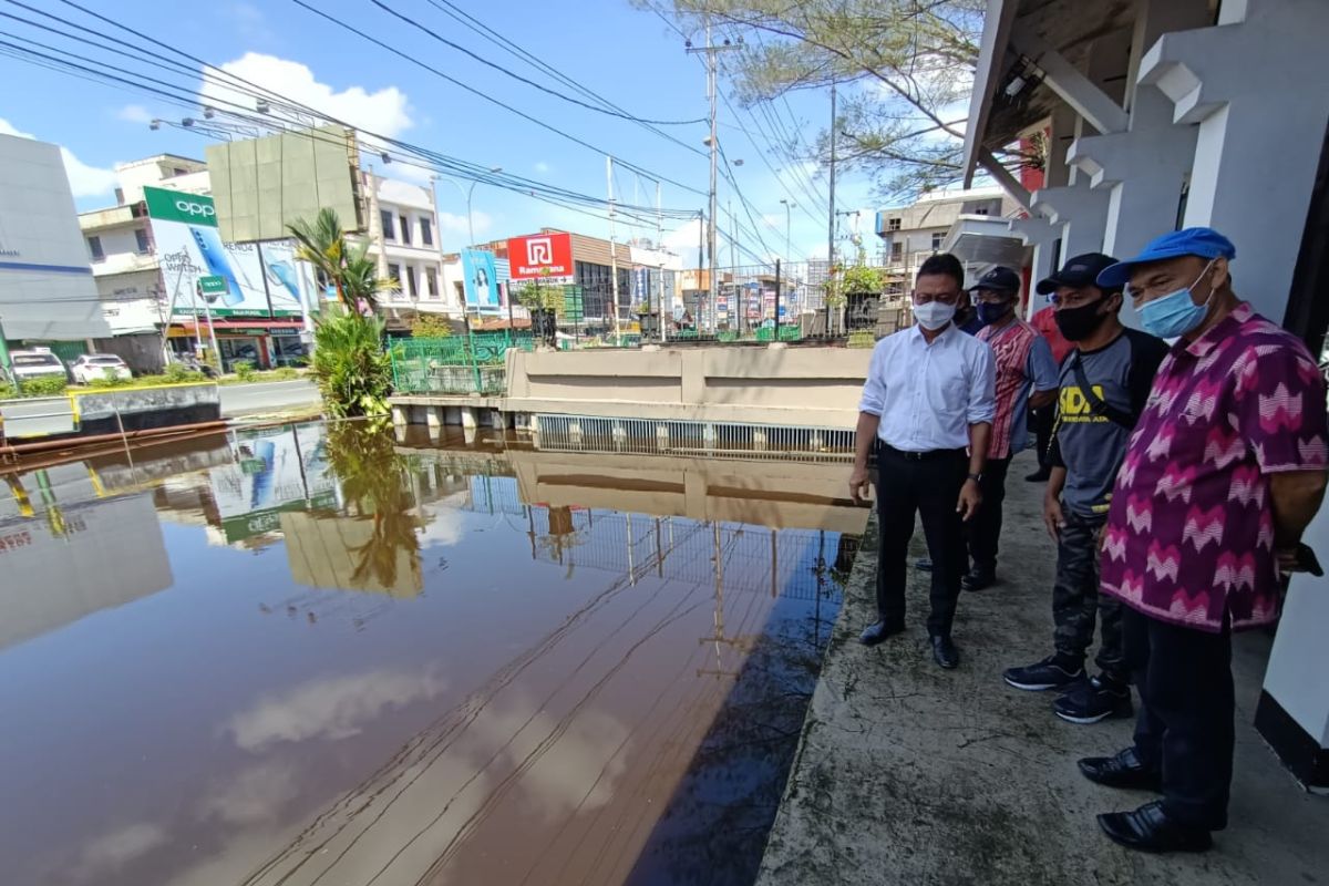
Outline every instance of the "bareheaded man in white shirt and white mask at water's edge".
{"label": "bareheaded man in white shirt and white mask at water's edge", "polygon": [[937,664],[960,652],[950,626],[968,566],[964,522],[982,503],[979,481],[995,413],[993,349],[952,323],[965,287],[953,255],[933,255],[914,280],[917,325],[877,343],[859,404],[849,494],[863,501],[877,448],[877,622],[859,638],[876,646],[905,627],[905,555],[914,513],[932,555],[928,635]]}

